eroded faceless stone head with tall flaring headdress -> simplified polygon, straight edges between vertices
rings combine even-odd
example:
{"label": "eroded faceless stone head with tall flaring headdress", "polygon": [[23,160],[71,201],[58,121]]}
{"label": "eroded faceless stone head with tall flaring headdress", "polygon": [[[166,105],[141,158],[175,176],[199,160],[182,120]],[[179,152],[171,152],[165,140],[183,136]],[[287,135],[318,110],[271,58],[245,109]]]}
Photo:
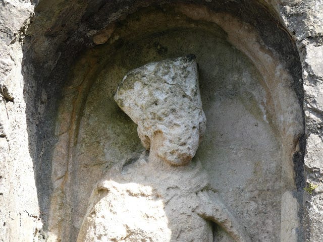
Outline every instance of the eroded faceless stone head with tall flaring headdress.
{"label": "eroded faceless stone head with tall flaring headdress", "polygon": [[149,156],[173,165],[188,163],[205,131],[206,118],[194,55],[149,63],[130,71],[115,100],[138,125]]}

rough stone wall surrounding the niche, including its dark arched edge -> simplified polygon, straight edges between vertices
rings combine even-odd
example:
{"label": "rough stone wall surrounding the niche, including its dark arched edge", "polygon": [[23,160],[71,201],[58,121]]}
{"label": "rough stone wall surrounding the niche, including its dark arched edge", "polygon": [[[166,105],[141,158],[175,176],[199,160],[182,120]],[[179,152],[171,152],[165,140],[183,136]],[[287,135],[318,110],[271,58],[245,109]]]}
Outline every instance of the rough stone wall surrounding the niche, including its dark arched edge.
{"label": "rough stone wall surrounding the niche, including its dark arched edge", "polygon": [[[47,240],[50,203],[53,203],[50,198],[57,186],[52,183],[53,147],[58,147],[59,141],[64,139],[64,132],[57,133],[57,113],[62,102],[70,104],[69,107],[66,106],[66,110],[71,108],[70,113],[73,113],[72,103],[75,101],[68,96],[73,96],[73,93],[66,94],[62,91],[66,84],[70,84],[68,81],[73,80],[73,74],[69,70],[73,69],[75,60],[78,60],[80,50],[92,49],[96,44],[107,41],[116,28],[122,27],[118,21],[116,25],[109,23],[124,20],[128,14],[156,2],[160,4],[160,1],[116,1],[104,4],[104,1],[85,0],[69,3],[12,0],[0,3],[1,241]],[[290,154],[294,170],[286,171],[290,174],[289,177],[293,176],[298,192],[296,195],[287,193],[283,197],[293,206],[302,206],[297,214],[303,225],[299,227],[302,230],[298,231],[299,241],[321,241],[323,1],[187,2],[206,6],[214,12],[227,12],[242,19],[253,26],[264,46],[270,50],[275,49],[278,56],[281,56],[280,61],[285,63],[285,68],[294,80],[290,87],[297,96],[294,100],[298,99],[304,110],[305,134],[299,133],[300,137],[291,149],[297,151]],[[159,8],[163,9],[163,6]],[[205,11],[203,8],[202,12]],[[194,13],[196,8],[187,10],[189,8],[184,8],[182,13],[191,19],[210,21],[205,15],[199,16],[198,11]],[[221,28],[226,30],[225,25]],[[273,35],[273,32],[277,34]],[[230,41],[236,41],[236,45],[239,45],[242,39],[248,40],[248,36]],[[159,46],[161,52],[162,47]],[[158,48],[158,45],[152,48]],[[299,55],[295,54],[297,52]],[[97,68],[95,63],[100,62],[100,57],[94,51],[92,59],[87,58],[87,61]],[[72,84],[73,87],[80,85]],[[79,101],[84,102],[82,99]],[[59,128],[63,129],[68,128],[68,125],[78,125],[73,122],[69,124],[64,116],[60,122]],[[68,145],[71,144],[73,143]],[[63,155],[66,148],[61,147],[59,154]],[[295,173],[291,174],[293,172]],[[303,192],[303,188],[309,184],[318,185],[312,194]],[[58,205],[66,206],[64,202]],[[282,211],[289,215],[295,210],[282,208]],[[69,235],[74,233],[73,229],[77,230],[77,225],[71,226]],[[281,239],[289,241],[284,240],[283,236]]]}

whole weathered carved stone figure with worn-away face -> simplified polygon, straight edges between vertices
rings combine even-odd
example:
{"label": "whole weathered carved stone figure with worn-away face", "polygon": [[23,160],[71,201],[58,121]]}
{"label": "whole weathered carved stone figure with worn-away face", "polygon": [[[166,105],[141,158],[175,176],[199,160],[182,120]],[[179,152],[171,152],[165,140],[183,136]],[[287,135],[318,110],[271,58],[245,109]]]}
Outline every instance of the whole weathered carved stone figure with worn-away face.
{"label": "whole weathered carved stone figure with worn-away face", "polygon": [[211,242],[212,222],[233,241],[250,241],[192,161],[206,125],[195,56],[129,72],[115,100],[146,151],[98,182],[77,241]]}

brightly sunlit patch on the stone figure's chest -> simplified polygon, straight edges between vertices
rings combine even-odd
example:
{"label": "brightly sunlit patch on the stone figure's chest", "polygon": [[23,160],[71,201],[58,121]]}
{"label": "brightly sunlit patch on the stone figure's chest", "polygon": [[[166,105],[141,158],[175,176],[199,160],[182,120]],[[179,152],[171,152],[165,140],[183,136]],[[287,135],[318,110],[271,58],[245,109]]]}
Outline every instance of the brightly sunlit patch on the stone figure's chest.
{"label": "brightly sunlit patch on the stone figure's chest", "polygon": [[164,203],[151,187],[105,181],[98,189],[106,195],[94,204],[77,241],[170,241]]}

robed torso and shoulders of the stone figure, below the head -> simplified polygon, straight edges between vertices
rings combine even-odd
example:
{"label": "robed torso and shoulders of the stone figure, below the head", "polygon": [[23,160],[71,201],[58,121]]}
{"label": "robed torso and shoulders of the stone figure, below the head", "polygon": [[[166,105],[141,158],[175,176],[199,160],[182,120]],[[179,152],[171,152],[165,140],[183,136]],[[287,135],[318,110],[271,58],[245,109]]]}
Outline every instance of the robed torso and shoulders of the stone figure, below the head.
{"label": "robed torso and shoulders of the stone figure, below the head", "polygon": [[223,227],[230,241],[250,241],[239,221],[210,190],[199,161],[171,166],[144,152],[136,162],[107,172],[89,205],[78,242],[100,238],[211,242],[210,222]]}

